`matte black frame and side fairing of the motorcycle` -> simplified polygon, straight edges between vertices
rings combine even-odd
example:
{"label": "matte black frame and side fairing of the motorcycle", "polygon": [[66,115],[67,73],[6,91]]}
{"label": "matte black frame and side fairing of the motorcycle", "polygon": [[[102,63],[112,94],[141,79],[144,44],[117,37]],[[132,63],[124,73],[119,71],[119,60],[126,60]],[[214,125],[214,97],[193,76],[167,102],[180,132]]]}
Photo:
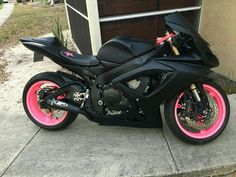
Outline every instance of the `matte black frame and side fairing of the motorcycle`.
{"label": "matte black frame and side fairing of the motorcycle", "polygon": [[[205,66],[192,64],[191,62],[176,63],[174,59],[172,61],[163,61],[155,57],[143,62],[140,58],[136,58],[99,75],[91,88],[91,102],[95,110],[102,114],[103,106],[98,104],[98,101],[101,99],[101,88],[106,83],[111,83],[122,89],[129,102],[135,103],[143,110],[144,119],[147,120],[147,127],[162,127],[160,105],[165,100],[178,95],[178,93],[194,81],[205,78],[208,71],[208,68]],[[165,80],[149,95],[142,95],[125,85],[127,81],[140,76],[158,75],[161,73],[167,74]],[[127,114],[127,116],[138,117],[140,115],[137,112],[132,112]]]}

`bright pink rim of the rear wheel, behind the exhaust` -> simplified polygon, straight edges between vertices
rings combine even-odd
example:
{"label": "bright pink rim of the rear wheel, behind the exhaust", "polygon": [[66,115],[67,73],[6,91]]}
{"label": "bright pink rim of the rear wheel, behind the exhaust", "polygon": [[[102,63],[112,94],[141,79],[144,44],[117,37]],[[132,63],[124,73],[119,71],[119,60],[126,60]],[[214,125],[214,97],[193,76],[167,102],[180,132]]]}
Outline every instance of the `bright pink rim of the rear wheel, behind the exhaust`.
{"label": "bright pink rim of the rear wheel, behind the exhaust", "polygon": [[43,84],[50,84],[52,87],[59,88],[59,86],[51,81],[38,81],[34,83],[28,90],[26,95],[26,105],[29,110],[29,113],[31,116],[40,124],[46,125],[46,126],[55,126],[60,124],[67,116],[68,112],[64,112],[64,115],[56,119],[53,117],[53,113],[45,113],[42,111],[38,104],[38,94],[37,92],[41,89],[40,86]]}

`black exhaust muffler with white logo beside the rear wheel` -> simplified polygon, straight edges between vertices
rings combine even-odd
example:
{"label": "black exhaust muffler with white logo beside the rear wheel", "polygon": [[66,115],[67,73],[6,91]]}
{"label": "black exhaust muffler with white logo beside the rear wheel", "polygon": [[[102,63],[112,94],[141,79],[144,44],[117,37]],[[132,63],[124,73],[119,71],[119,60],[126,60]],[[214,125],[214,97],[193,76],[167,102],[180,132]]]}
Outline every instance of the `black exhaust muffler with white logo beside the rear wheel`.
{"label": "black exhaust muffler with white logo beside the rear wheel", "polygon": [[46,101],[47,106],[54,109],[60,109],[63,111],[69,111],[73,113],[80,113],[80,106],[74,103],[68,103],[63,100],[48,99]]}

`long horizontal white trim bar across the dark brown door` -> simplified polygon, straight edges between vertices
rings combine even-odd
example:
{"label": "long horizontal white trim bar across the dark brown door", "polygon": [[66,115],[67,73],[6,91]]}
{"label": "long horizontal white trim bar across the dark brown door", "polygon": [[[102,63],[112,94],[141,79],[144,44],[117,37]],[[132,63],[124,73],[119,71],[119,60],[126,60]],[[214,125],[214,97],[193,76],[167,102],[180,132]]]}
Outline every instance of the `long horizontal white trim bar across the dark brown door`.
{"label": "long horizontal white trim bar across the dark brown door", "polygon": [[178,8],[178,9],[171,9],[171,10],[161,10],[161,11],[153,11],[153,12],[143,12],[143,13],[136,13],[136,14],[128,14],[128,15],[117,15],[117,16],[110,16],[110,17],[103,17],[100,18],[100,22],[110,22],[110,21],[118,21],[118,20],[127,20],[132,18],[141,18],[141,17],[148,17],[148,16],[156,16],[156,15],[163,15],[184,11],[191,11],[191,10],[199,10],[201,6],[197,7],[187,7],[187,8]]}

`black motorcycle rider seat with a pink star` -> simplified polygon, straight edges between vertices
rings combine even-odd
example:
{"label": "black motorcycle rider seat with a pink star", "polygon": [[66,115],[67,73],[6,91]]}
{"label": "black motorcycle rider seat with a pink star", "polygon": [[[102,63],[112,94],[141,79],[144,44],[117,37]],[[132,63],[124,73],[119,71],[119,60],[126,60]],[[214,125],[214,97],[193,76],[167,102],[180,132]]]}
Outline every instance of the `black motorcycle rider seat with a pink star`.
{"label": "black motorcycle rider seat with a pink star", "polygon": [[99,60],[92,55],[80,55],[68,49],[62,50],[60,55],[74,65],[79,66],[96,66]]}

